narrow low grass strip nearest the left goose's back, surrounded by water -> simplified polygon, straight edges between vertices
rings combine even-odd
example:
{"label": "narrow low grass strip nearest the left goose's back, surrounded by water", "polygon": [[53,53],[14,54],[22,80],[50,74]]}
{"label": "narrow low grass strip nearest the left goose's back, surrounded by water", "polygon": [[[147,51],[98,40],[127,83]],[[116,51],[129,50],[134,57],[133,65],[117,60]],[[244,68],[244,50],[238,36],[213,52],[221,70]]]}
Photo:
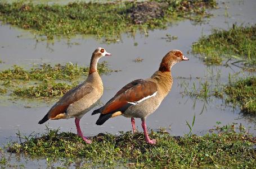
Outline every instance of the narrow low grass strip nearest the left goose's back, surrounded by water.
{"label": "narrow low grass strip nearest the left goose's back, surrounded by water", "polygon": [[44,98],[44,97],[55,97],[61,96],[75,85],[67,83],[55,83],[53,81],[44,81],[38,86],[30,86],[28,88],[16,88],[14,94],[21,97],[35,97],[35,98]]}

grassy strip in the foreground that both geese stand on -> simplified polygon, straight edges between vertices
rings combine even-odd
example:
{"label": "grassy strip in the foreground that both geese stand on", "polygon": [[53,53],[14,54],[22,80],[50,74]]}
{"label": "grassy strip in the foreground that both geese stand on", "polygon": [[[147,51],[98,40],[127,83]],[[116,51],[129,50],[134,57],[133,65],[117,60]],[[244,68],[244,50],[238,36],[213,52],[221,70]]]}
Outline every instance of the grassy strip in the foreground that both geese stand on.
{"label": "grassy strip in the foreground that both geese stand on", "polygon": [[[19,137],[20,134],[19,134]],[[254,168],[255,138],[245,133],[219,132],[202,137],[174,137],[151,132],[156,145],[147,144],[143,133],[120,135],[98,134],[86,144],[73,133],[48,129],[41,137],[23,137],[21,144],[8,145],[8,152],[24,153],[30,158],[46,158],[47,162],[82,158],[82,167],[136,168]],[[22,141],[23,139],[21,139]]]}

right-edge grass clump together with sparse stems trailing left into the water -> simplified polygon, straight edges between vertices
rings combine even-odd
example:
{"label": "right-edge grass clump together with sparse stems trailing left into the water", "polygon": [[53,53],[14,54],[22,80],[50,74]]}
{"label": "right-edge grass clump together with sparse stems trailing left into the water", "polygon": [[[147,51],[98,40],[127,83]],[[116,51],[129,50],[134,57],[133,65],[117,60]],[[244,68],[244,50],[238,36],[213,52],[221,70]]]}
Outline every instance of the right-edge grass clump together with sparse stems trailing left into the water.
{"label": "right-edge grass clump together with sparse stems trailing left into the water", "polygon": [[256,114],[256,77],[232,78],[230,77],[230,82],[227,84],[218,82],[219,79],[214,78],[212,84],[209,79],[205,79],[204,82],[199,79],[197,85],[193,83],[190,86],[186,81],[182,81],[179,85],[183,95],[206,102],[211,101],[213,97],[221,98],[226,104],[231,103],[233,107],[239,105],[241,112],[245,114]]}

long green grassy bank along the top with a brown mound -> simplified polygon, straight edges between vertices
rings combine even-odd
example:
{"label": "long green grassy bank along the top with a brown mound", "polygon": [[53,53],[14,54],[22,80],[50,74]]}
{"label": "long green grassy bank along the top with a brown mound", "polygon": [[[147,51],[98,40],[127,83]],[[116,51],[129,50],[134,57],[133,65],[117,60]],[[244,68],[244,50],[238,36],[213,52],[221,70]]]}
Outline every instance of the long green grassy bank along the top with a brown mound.
{"label": "long green grassy bank along the top with a brown mound", "polygon": [[178,18],[198,20],[209,17],[206,9],[216,6],[215,0],[150,1],[150,2],[72,2],[33,4],[0,1],[0,20],[48,39],[55,36],[96,35],[113,40],[122,32],[165,28]]}

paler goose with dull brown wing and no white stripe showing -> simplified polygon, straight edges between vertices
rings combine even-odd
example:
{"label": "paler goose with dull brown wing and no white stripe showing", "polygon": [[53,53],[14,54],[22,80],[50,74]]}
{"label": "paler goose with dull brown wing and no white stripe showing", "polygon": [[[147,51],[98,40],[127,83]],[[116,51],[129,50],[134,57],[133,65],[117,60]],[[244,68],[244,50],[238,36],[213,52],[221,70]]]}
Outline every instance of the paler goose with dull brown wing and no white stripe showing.
{"label": "paler goose with dull brown wing and no white stripe showing", "polygon": [[72,88],[60,98],[55,105],[47,112],[39,124],[43,124],[47,120],[59,120],[75,118],[77,126],[77,134],[82,137],[86,143],[91,143],[91,140],[83,137],[80,129],[79,121],[86,112],[91,110],[103,94],[103,84],[101,77],[97,72],[98,59],[104,56],[111,55],[104,48],[97,48],[92,53],[89,75],[82,84]]}

